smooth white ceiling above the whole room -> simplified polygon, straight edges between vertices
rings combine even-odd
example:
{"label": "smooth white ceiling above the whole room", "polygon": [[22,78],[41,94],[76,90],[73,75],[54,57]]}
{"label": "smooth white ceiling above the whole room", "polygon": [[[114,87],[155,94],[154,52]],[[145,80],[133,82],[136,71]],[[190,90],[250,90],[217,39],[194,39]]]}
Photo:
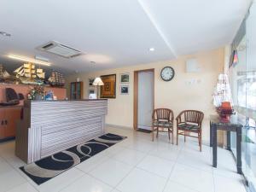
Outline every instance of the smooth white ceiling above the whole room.
{"label": "smooth white ceiling above the whole room", "polygon": [[[41,55],[63,73],[166,61],[230,44],[250,0],[1,0],[0,63]],[[84,52],[72,59],[36,49],[50,40]],[[154,52],[149,48],[154,47]],[[91,63],[95,61],[96,63]]]}

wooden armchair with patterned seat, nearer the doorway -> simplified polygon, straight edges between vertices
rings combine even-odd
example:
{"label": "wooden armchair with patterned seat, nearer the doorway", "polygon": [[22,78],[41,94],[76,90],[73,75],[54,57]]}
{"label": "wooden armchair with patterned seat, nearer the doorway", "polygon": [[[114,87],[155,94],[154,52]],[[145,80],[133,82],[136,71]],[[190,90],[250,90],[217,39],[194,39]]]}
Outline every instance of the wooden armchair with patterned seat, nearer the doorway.
{"label": "wooden armchair with patterned seat, nearer the doorway", "polygon": [[[173,112],[168,108],[156,108],[152,114],[152,141],[154,141],[154,131],[156,131],[156,137],[158,132],[168,132],[169,141],[170,133],[172,133],[173,144]],[[160,130],[161,128],[161,130]]]}

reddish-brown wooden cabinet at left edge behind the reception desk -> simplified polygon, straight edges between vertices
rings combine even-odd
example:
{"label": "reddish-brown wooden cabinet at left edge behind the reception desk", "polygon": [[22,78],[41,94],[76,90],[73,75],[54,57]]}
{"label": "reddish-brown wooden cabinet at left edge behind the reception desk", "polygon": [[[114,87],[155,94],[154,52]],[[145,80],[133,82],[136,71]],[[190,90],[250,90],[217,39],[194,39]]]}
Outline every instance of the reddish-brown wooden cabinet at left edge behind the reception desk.
{"label": "reddish-brown wooden cabinet at left edge behind the reception desk", "polygon": [[0,141],[15,137],[16,125],[20,120],[21,108],[0,108]]}

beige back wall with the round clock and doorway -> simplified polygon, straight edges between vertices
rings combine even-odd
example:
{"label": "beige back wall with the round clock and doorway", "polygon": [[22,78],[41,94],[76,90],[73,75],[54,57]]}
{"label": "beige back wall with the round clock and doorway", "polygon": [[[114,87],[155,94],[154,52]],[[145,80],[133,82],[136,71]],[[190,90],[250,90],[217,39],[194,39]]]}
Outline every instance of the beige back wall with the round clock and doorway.
{"label": "beige back wall with the round clock and doorway", "polygon": [[[185,61],[195,58],[200,64],[201,72],[186,73]],[[160,70],[171,66],[175,77],[170,82],[160,79]],[[133,125],[133,72],[141,69],[154,68],[154,106],[155,108],[171,108],[177,116],[183,109],[197,109],[205,113],[203,123],[203,141],[209,138],[209,115],[215,113],[212,105],[212,91],[216,84],[218,73],[224,68],[224,49],[214,49],[195,55],[186,55],[173,61],[159,61],[137,66],[109,69],[94,73],[80,73],[67,77],[67,83],[76,81],[79,77],[84,81],[84,98],[88,97],[88,79],[104,74],[117,74],[116,99],[108,100],[107,124],[132,127]],[[130,73],[131,83],[128,96],[119,93],[120,73]],[[195,80],[195,84],[189,82]],[[69,89],[67,88],[67,91]],[[69,92],[68,92],[69,93]],[[69,95],[69,94],[68,94]]]}

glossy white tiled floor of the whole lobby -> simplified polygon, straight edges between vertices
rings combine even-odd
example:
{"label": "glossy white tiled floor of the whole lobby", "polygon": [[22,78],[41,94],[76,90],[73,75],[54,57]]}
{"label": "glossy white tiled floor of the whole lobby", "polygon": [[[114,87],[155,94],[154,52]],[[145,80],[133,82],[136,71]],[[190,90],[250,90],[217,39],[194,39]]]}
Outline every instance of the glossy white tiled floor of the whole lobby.
{"label": "glossy white tiled floor of the whole lobby", "polygon": [[1,143],[0,192],[246,192],[227,150],[218,148],[218,168],[212,168],[211,148],[200,153],[192,138],[176,146],[167,135],[152,143],[147,133],[107,132],[128,138],[39,186],[20,172],[15,143]]}

